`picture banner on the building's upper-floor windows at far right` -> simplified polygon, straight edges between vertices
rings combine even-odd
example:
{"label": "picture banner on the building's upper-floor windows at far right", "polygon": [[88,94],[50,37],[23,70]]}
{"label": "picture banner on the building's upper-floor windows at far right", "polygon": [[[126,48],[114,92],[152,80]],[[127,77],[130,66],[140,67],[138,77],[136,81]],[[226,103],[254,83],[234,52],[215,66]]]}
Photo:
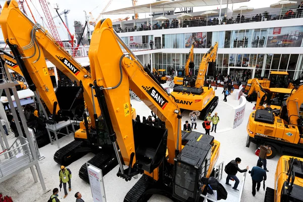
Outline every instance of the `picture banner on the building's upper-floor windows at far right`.
{"label": "picture banner on the building's upper-floor windows at far right", "polygon": [[[300,47],[302,34],[303,26],[270,28],[266,47]],[[263,38],[260,38],[260,43],[265,43]]]}

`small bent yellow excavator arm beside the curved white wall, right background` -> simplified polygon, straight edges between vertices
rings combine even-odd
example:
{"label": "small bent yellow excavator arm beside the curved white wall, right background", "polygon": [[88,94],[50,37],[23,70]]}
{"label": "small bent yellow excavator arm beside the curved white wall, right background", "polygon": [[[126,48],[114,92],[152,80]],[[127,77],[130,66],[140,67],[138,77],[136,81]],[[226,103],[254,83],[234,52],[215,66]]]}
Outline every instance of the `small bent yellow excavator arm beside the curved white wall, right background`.
{"label": "small bent yellow excavator arm beside the curved white wall, right background", "polygon": [[262,85],[256,78],[251,80],[251,86],[247,93],[247,96],[251,96],[252,93],[257,92],[256,109],[264,109],[263,102],[268,102],[268,93],[263,89]]}

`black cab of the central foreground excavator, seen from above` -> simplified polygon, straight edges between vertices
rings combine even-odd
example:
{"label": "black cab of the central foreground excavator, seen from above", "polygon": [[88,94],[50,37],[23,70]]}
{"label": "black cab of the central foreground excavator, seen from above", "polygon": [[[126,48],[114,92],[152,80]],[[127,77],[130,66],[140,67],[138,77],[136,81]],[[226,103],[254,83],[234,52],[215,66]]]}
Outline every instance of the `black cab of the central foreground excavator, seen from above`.
{"label": "black cab of the central foreground excavator, seen from above", "polygon": [[181,201],[199,201],[203,191],[202,179],[207,176],[211,164],[213,140],[214,137],[209,135],[193,137],[174,159],[174,198]]}

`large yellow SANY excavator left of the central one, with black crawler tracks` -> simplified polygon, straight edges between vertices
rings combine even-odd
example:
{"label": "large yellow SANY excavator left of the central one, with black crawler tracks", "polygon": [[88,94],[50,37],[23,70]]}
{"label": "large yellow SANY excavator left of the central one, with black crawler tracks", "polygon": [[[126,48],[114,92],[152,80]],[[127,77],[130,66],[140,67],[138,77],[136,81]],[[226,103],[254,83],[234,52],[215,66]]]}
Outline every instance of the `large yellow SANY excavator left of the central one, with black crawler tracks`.
{"label": "large yellow SANY excavator left of the central one, with black crawler tracks", "polygon": [[[62,110],[58,105],[45,58],[69,79],[76,81],[83,91],[88,112],[83,114],[84,121],[80,122],[80,129],[75,132],[75,140],[56,151],[54,160],[60,165],[67,166],[92,151],[96,156],[89,163],[103,169],[104,173],[110,171],[117,165],[117,159],[113,153],[113,145],[106,131],[101,110],[94,105],[97,103],[92,88],[92,75],[95,72],[88,72],[42,26],[31,22],[20,11],[16,1],[6,2],[0,16],[0,24],[5,41],[29,88],[34,92],[38,90],[41,99],[53,115],[61,114]],[[130,105],[128,112],[132,116],[135,114]],[[54,118],[53,123],[56,121]],[[85,164],[81,167],[79,175],[88,182]]]}

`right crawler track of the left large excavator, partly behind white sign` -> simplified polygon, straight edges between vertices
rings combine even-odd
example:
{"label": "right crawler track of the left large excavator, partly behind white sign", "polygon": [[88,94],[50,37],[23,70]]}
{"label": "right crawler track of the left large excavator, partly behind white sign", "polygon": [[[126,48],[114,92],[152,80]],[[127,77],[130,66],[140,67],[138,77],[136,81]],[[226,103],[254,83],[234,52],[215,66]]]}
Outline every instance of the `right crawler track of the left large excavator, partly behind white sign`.
{"label": "right crawler track of the left large excavator, partly behind white sign", "polygon": [[[118,165],[114,151],[100,151],[96,156],[90,159],[87,163],[102,170],[103,176],[110,172]],[[79,170],[79,177],[85,182],[89,183],[86,163],[82,165]]]}

